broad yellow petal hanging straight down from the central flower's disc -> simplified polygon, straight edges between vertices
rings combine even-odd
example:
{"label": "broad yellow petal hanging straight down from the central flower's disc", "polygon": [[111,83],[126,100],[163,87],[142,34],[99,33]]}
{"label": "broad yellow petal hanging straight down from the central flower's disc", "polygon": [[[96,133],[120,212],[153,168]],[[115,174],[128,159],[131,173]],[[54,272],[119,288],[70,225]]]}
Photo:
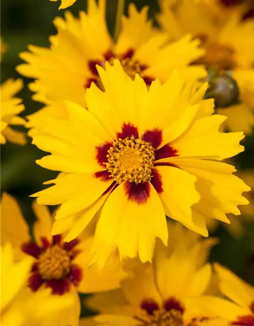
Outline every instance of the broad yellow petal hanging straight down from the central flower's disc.
{"label": "broad yellow petal hanging straight down from the central flower's disc", "polygon": [[115,248],[121,259],[139,255],[141,261],[151,261],[156,237],[166,243],[168,234],[164,209],[155,189],[149,184],[149,197],[139,204],[128,199],[122,183],[103,206],[92,247],[94,261],[103,266]]}

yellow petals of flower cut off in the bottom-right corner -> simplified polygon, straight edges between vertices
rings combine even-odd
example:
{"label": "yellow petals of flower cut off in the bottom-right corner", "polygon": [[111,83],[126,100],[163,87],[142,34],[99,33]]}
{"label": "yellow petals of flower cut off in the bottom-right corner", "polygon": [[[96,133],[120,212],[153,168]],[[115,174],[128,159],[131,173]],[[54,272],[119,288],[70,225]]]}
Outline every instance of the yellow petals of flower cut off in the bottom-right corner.
{"label": "yellow petals of flower cut off in the bottom-right corner", "polygon": [[204,297],[203,306],[217,316],[225,318],[228,325],[254,324],[254,287],[245,283],[229,269],[215,264],[219,278],[221,293],[230,301],[223,298]]}

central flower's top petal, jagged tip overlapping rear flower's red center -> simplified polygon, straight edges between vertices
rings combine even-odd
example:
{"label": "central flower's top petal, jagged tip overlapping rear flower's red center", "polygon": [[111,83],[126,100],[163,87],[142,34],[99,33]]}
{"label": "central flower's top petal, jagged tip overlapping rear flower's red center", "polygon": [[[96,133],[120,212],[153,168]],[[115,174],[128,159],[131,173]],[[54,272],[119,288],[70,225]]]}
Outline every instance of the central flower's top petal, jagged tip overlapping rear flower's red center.
{"label": "central flower's top petal, jagged tip overlapping rear flower's red center", "polygon": [[[114,61],[114,66],[106,63],[106,70],[101,67],[97,69],[105,92],[91,85],[86,92],[88,110],[100,121],[111,137],[115,138],[124,123],[131,122],[137,127],[138,103],[135,99],[138,96],[142,99],[147,94],[147,87],[143,80],[141,88],[140,81],[132,82],[118,60]],[[118,80],[118,83],[115,83],[115,80]],[[137,86],[139,93],[138,89],[134,88],[134,83],[139,84]]]}

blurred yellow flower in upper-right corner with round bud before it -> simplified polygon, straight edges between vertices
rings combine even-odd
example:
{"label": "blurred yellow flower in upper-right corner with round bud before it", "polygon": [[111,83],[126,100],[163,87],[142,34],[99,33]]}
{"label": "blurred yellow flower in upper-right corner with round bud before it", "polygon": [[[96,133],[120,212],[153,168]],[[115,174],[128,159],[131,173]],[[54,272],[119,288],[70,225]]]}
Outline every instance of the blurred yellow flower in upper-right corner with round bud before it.
{"label": "blurred yellow flower in upper-right corner with round bud before it", "polygon": [[224,127],[250,133],[254,125],[254,21],[242,21],[241,12],[234,11],[224,23],[215,23],[212,7],[183,0],[173,8],[162,1],[158,21],[172,40],[192,33],[201,41],[205,56],[197,63],[203,63],[211,75],[209,96],[215,99],[218,113],[228,117]]}

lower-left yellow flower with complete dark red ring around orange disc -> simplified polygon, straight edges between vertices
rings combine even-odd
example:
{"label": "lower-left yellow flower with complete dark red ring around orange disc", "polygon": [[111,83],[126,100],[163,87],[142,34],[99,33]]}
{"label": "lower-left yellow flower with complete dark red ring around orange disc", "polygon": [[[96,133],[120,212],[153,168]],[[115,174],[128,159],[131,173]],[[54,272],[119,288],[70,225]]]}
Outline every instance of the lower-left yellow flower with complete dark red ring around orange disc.
{"label": "lower-left yellow flower with complete dark red ring around orange disc", "polygon": [[[118,257],[111,257],[107,266],[98,269],[90,266],[92,237],[63,242],[60,234],[51,236],[52,218],[45,206],[33,205],[37,222],[33,227],[35,242],[31,240],[28,226],[16,201],[7,194],[1,200],[1,242],[10,241],[15,250],[33,258],[33,266],[26,278],[34,293],[50,288],[51,296],[72,296],[75,303],[54,320],[63,326],[78,325],[80,301],[78,291],[90,293],[119,287],[126,277]],[[15,226],[15,227],[14,227]],[[42,326],[48,325],[48,320]]]}

